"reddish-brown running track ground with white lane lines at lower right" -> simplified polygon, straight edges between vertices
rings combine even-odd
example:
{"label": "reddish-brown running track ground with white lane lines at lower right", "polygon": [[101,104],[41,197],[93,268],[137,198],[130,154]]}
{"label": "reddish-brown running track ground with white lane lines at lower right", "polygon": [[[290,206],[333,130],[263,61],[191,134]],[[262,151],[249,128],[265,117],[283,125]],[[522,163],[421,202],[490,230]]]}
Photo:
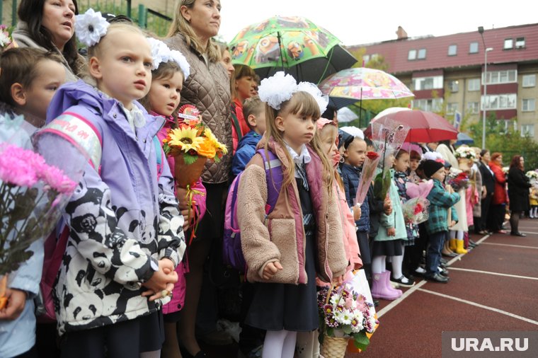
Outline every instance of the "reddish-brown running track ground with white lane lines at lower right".
{"label": "reddish-brown running track ground with white lane lines at lower right", "polygon": [[370,347],[346,357],[441,357],[442,331],[538,330],[538,220],[526,238],[471,236],[481,243],[450,262],[450,282],[418,282],[381,301]]}

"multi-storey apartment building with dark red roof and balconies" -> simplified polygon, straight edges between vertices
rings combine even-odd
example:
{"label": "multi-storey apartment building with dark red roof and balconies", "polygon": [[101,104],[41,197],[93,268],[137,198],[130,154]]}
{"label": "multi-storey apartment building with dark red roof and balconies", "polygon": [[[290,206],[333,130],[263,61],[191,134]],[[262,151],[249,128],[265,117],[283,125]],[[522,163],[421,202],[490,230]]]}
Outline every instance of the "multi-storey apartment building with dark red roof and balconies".
{"label": "multi-storey apartment building with dark red roof and balconies", "polygon": [[364,48],[365,63],[382,55],[388,71],[415,93],[414,108],[445,108],[449,120],[457,111],[478,121],[484,103],[488,115],[495,113],[506,125],[517,119],[522,135],[538,139],[538,23],[486,29],[483,40],[478,30],[411,38],[399,28],[396,34],[396,40],[348,49]]}

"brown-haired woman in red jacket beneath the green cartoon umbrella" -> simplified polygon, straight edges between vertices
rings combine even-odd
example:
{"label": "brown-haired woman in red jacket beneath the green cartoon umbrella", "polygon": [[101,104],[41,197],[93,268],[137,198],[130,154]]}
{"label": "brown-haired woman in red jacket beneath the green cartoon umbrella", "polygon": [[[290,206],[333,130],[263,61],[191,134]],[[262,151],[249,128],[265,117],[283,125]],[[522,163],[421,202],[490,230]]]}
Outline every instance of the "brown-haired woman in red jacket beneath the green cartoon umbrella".
{"label": "brown-haired woman in red jacket beneath the green cartoon umbrella", "polygon": [[234,76],[231,78],[231,137],[234,153],[241,138],[250,132],[243,117],[243,103],[254,96],[256,72],[245,64],[234,64]]}

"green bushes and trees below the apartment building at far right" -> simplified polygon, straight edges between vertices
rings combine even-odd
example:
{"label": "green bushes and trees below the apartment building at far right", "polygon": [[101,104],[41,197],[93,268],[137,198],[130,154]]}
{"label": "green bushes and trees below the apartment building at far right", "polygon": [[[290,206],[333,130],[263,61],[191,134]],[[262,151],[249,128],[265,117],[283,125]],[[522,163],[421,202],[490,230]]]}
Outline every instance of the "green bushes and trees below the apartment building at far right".
{"label": "green bushes and trees below the apartment building at far right", "polygon": [[[513,121],[517,122],[515,119]],[[521,137],[512,123],[507,126],[506,120],[497,120],[495,112],[490,112],[486,117],[486,148],[491,153],[502,153],[505,166],[508,166],[513,156],[521,155],[525,158],[526,170],[538,168],[538,143],[531,137]],[[481,120],[469,125],[469,135],[474,139],[474,145],[481,148]]]}

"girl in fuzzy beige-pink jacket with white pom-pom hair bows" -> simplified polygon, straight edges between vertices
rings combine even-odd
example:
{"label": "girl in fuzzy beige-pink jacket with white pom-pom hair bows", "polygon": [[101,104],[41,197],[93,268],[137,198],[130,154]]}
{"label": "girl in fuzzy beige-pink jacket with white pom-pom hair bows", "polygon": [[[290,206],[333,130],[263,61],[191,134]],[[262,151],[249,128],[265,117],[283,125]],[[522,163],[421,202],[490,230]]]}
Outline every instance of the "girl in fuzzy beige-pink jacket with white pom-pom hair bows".
{"label": "girl in fuzzy beige-pink jacket with white pom-pom hair bows", "polygon": [[322,103],[313,84],[297,86],[282,72],[264,79],[259,95],[267,103],[267,139],[258,146],[278,157],[283,179],[268,216],[261,155],[253,157],[239,183],[237,214],[247,279],[260,282],[246,323],[267,330],[263,357],[292,357],[297,331],[318,328],[316,273],[326,282],[341,280],[348,262],[333,168],[315,135],[326,100]]}

